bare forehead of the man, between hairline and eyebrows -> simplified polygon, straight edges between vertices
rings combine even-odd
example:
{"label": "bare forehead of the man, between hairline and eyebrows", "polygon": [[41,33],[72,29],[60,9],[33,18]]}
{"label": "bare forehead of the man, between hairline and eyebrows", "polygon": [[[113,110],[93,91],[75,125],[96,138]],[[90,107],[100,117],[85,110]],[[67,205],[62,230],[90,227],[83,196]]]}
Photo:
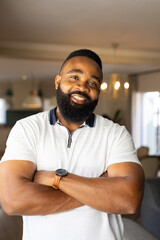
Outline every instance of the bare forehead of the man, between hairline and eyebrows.
{"label": "bare forehead of the man, between hairline and eyebrows", "polygon": [[62,72],[66,72],[71,69],[81,69],[82,71],[93,71],[99,75],[102,75],[102,71],[99,65],[91,58],[85,56],[77,56],[69,59],[62,67]]}

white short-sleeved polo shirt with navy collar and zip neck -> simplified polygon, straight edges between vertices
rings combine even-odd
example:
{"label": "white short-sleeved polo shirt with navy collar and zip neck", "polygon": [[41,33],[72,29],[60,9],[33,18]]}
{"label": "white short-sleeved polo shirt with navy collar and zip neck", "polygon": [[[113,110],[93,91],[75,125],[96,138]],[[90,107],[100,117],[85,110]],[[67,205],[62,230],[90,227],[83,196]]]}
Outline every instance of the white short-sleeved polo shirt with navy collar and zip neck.
{"label": "white short-sleeved polo shirt with navy collar and zip neck", "polygon": [[[99,177],[114,163],[139,164],[132,138],[124,126],[92,114],[70,135],[57,120],[55,109],[15,124],[2,161],[12,159],[32,161],[37,170],[65,168],[85,177]],[[120,215],[87,205],[47,216],[23,216],[23,224],[23,240],[123,239]]]}

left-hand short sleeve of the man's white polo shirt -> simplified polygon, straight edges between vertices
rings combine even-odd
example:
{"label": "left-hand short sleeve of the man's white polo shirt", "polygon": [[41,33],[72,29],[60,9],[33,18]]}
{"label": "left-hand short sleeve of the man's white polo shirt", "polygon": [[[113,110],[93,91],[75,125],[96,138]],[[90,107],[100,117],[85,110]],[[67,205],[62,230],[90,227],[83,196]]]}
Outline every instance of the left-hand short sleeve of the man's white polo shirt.
{"label": "left-hand short sleeve of the man's white polo shirt", "polygon": [[1,161],[28,160],[36,163],[34,133],[18,121],[11,129]]}

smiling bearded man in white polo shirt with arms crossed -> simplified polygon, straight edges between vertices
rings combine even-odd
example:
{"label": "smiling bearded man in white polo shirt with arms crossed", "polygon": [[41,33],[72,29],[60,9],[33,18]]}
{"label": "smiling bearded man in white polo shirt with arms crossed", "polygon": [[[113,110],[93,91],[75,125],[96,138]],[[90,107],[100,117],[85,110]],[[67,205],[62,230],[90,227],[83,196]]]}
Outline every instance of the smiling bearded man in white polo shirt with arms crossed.
{"label": "smiling bearded man in white polo shirt with arms crossed", "polygon": [[71,53],[55,78],[57,108],[13,127],[0,164],[0,197],[23,216],[23,240],[121,240],[120,214],[142,199],[143,170],[126,129],[93,114],[99,56]]}

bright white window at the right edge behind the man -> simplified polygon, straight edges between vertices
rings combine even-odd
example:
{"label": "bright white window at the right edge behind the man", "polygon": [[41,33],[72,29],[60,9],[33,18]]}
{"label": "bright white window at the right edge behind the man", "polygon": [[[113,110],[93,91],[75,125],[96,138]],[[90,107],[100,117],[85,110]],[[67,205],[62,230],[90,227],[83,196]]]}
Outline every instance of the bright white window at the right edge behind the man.
{"label": "bright white window at the right edge behind the man", "polygon": [[160,156],[160,92],[138,93],[137,96],[136,147],[148,146],[150,155]]}

